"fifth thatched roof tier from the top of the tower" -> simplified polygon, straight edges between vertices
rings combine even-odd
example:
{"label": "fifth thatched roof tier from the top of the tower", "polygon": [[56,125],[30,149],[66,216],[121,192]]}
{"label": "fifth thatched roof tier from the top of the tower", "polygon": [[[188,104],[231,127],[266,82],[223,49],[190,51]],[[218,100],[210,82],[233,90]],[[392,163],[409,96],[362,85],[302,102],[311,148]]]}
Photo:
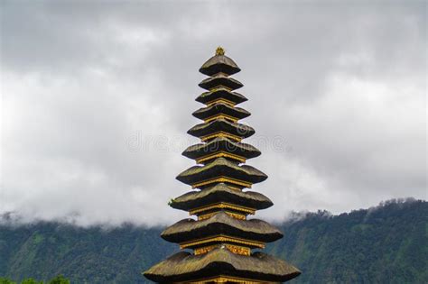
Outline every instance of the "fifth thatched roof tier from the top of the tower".
{"label": "fifth thatched roof tier from the top of the tower", "polygon": [[207,137],[207,140],[210,140],[209,137],[215,133],[227,133],[237,137],[237,139],[242,139],[250,137],[256,132],[253,127],[246,124],[235,124],[224,118],[219,118],[207,124],[196,124],[187,133],[202,140]]}

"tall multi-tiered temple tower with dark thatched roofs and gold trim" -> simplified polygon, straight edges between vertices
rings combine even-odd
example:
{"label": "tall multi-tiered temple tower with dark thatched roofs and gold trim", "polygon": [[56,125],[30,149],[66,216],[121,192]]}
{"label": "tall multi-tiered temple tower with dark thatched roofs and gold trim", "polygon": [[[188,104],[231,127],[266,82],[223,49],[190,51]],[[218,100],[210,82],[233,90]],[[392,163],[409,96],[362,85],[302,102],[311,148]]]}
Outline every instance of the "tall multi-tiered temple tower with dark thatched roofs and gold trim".
{"label": "tall multi-tiered temple tower with dark thatched roofs and gold trim", "polygon": [[196,100],[205,107],[193,113],[203,120],[189,130],[200,143],[183,151],[196,166],[177,177],[195,190],[173,199],[170,206],[196,215],[163,231],[164,240],[179,243],[178,252],[144,272],[161,283],[274,283],[293,279],[301,272],[285,261],[263,252],[265,243],[283,237],[273,225],[247,219],[256,210],[273,206],[264,195],[246,190],[267,176],[245,164],[260,155],[255,147],[241,142],[255,133],[239,124],[250,115],[236,105],[247,101],[233,90],[243,85],[234,78],[237,64],[218,48],[200,72],[209,78],[199,86],[208,90]]}

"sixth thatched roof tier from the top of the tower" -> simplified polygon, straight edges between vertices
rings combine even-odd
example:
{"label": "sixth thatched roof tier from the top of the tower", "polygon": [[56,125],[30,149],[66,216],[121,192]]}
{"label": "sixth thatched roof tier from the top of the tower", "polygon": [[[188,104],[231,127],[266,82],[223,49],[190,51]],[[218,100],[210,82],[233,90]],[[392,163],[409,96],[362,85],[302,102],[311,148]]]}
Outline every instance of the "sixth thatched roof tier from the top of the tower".
{"label": "sixth thatched roof tier from the top of the tower", "polygon": [[184,150],[182,155],[187,158],[197,160],[198,163],[206,163],[213,159],[210,157],[219,152],[227,152],[234,156],[242,157],[242,159],[233,159],[233,157],[230,157],[230,160],[238,161],[255,158],[261,154],[256,147],[250,144],[234,142],[227,137],[218,137],[206,143],[192,145]]}

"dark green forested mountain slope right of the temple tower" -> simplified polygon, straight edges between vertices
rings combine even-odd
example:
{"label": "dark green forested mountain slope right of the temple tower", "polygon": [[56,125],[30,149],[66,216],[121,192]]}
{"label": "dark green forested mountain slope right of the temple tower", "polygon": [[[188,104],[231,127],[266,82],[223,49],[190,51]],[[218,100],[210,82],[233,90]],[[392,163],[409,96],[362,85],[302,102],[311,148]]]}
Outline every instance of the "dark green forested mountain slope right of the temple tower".
{"label": "dark green forested mountain slope right of the temple tower", "polygon": [[272,253],[302,270],[293,283],[428,283],[428,203],[305,215],[282,224]]}

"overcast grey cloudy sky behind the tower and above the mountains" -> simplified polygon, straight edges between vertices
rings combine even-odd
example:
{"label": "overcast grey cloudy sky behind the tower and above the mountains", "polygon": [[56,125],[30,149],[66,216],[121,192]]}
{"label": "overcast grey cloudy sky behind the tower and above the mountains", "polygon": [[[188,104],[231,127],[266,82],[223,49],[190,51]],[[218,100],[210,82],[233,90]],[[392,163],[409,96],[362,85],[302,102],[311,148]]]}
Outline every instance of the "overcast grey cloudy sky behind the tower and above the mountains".
{"label": "overcast grey cloudy sky behind the tower and above the mountains", "polygon": [[242,69],[261,216],[427,198],[424,1],[2,1],[0,214],[172,224],[217,46]]}

